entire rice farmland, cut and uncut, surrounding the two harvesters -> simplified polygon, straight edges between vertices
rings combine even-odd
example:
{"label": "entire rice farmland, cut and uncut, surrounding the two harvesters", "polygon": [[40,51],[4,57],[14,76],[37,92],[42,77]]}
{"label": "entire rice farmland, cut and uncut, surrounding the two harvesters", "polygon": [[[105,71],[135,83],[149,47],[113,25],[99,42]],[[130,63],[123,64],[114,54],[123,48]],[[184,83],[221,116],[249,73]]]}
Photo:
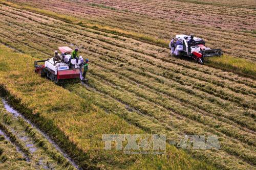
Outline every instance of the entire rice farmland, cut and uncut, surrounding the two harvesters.
{"label": "entire rice farmland, cut and uncut, surrounding the two harvesters", "polygon": [[[0,166],[255,169],[255,8],[253,1],[0,1]],[[224,56],[205,64],[171,56],[170,38],[190,33]],[[59,46],[89,59],[87,82],[56,85],[34,73],[34,61]],[[112,142],[105,150],[103,134],[164,134],[166,148],[125,154]],[[220,148],[182,147],[189,135],[214,136]]]}

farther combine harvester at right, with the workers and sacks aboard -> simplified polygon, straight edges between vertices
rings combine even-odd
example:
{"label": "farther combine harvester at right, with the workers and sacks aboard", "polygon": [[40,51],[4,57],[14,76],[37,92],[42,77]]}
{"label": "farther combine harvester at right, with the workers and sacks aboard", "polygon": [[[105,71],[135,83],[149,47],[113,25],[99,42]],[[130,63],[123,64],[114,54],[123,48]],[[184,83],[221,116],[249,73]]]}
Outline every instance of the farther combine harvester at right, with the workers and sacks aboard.
{"label": "farther combine harvester at right, with the workers and sacks aboard", "polygon": [[[176,42],[175,42],[176,41]],[[222,56],[221,49],[211,49],[205,46],[205,41],[193,35],[176,35],[169,44],[171,54],[186,56],[203,63],[205,57]]]}

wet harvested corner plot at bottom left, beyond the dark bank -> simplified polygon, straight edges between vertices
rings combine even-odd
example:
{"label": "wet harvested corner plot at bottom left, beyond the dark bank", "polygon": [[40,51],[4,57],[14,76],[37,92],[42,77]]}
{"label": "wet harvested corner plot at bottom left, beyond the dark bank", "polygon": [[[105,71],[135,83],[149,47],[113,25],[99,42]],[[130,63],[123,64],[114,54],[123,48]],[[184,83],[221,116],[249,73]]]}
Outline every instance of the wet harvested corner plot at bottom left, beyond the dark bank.
{"label": "wet harvested corner plot at bottom left, beyond the dark bank", "polygon": [[75,169],[52,142],[0,100],[1,169]]}

